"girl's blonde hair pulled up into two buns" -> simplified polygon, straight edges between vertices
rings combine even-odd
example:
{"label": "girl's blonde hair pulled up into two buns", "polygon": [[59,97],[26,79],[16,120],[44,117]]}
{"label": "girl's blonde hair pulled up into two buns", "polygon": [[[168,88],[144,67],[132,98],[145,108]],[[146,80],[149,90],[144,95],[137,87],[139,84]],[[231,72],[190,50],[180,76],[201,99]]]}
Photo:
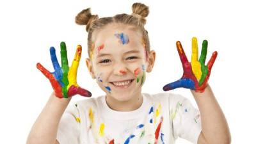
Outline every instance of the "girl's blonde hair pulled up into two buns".
{"label": "girl's blonde hair pulled up into two buns", "polygon": [[76,16],[76,24],[86,25],[86,31],[88,32],[88,55],[92,58],[92,52],[94,49],[94,44],[92,42],[93,31],[104,28],[107,24],[118,23],[127,24],[129,26],[134,26],[142,34],[143,44],[145,46],[146,52],[150,51],[150,44],[148,38],[148,32],[144,28],[146,24],[145,17],[148,16],[149,9],[148,6],[142,3],[132,4],[132,14],[127,15],[125,13],[115,15],[114,17],[102,17],[99,19],[98,15],[92,15],[91,9],[87,8],[82,10]]}

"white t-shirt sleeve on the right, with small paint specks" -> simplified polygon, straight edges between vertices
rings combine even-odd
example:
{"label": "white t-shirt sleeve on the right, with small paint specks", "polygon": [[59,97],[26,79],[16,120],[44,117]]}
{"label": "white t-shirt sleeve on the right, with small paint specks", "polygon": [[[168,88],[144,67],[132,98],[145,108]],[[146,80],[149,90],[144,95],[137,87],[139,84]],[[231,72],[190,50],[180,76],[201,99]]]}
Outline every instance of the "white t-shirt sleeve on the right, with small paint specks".
{"label": "white t-shirt sleeve on the right, with small paint specks", "polygon": [[170,118],[172,119],[173,136],[198,143],[198,136],[202,131],[201,118],[198,109],[181,95],[173,95],[170,99]]}

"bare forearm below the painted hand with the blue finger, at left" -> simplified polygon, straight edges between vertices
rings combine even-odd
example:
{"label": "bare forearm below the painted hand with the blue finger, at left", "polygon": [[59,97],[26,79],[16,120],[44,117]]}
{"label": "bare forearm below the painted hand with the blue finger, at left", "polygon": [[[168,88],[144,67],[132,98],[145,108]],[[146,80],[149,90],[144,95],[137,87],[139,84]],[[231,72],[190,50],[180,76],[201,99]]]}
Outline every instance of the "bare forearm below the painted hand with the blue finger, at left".
{"label": "bare forearm below the painted hand with the blue finger, at left", "polygon": [[52,93],[44,109],[36,119],[28,136],[27,144],[54,144],[63,112],[68,106],[71,97],[68,99],[59,99]]}

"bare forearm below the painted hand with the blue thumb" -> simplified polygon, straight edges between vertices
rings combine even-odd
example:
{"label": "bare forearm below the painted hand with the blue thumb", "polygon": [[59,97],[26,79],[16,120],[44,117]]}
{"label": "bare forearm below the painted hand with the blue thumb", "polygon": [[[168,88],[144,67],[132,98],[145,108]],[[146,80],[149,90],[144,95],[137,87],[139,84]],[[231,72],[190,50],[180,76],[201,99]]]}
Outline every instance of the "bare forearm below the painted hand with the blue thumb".
{"label": "bare forearm below the painted hand with the blue thumb", "polygon": [[208,85],[202,93],[194,90],[191,90],[191,93],[198,105],[202,122],[202,132],[198,138],[198,144],[231,143],[227,120],[212,93],[211,87]]}

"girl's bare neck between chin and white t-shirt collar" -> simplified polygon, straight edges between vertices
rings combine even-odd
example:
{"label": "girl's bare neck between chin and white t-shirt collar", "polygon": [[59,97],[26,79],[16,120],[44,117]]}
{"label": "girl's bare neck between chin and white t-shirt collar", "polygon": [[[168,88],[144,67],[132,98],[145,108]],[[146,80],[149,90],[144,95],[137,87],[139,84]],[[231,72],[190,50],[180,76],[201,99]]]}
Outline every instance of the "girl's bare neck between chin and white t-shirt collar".
{"label": "girl's bare neck between chin and white t-shirt collar", "polygon": [[115,98],[107,95],[106,102],[109,106],[109,108],[115,110],[115,111],[134,111],[138,108],[140,108],[143,97],[141,93],[137,97],[133,97],[132,99],[126,100],[126,101],[119,101]]}

